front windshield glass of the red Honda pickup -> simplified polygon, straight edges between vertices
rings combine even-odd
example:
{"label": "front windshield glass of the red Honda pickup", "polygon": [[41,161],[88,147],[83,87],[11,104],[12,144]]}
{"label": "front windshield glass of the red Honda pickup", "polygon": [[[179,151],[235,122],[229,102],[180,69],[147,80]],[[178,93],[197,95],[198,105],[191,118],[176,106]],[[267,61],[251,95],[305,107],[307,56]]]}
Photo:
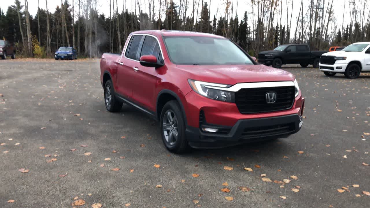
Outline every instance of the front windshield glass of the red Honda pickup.
{"label": "front windshield glass of the red Honda pickup", "polygon": [[164,37],[168,56],[174,64],[226,65],[253,64],[230,40],[216,37]]}

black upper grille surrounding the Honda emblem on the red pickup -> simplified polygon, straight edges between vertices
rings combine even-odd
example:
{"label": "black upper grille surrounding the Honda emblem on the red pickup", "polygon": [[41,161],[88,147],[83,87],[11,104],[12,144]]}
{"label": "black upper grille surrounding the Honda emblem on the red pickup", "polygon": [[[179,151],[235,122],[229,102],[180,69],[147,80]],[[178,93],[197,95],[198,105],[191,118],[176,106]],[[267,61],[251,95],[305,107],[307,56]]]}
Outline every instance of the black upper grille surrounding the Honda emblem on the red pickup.
{"label": "black upper grille surrounding the Honda emblem on the red pickup", "polygon": [[[266,93],[275,92],[276,102],[267,103]],[[235,93],[235,103],[240,113],[263,113],[292,108],[295,98],[295,87],[245,88]]]}

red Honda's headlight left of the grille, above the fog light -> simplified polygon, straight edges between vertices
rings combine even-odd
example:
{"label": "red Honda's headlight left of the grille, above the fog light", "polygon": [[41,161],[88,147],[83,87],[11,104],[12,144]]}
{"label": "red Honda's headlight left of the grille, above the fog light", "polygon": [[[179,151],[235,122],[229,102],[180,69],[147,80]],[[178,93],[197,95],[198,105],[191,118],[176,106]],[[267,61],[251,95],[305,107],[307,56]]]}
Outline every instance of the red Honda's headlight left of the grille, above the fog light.
{"label": "red Honda's headlight left of the grille, above the fog light", "polygon": [[212,89],[212,87],[230,87],[226,84],[215,84],[202,81],[188,80],[191,88],[198,94],[213,100],[235,102],[235,93],[224,90]]}

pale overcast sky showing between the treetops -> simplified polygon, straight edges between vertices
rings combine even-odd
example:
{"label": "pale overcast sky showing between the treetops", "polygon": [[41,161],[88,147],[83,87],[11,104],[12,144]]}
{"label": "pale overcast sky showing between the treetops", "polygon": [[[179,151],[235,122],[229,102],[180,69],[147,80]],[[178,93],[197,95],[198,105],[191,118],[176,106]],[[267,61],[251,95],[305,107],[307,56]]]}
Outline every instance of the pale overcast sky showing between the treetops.
{"label": "pale overcast sky showing between the treetops", "polygon": [[[24,4],[24,0],[20,0],[21,3]],[[64,0],[63,0],[64,1]],[[77,10],[78,10],[78,7],[77,7],[77,3],[78,3],[78,0],[74,0],[75,2],[75,15],[77,15]],[[121,8],[122,10],[122,7],[123,7],[123,1],[124,0],[118,0],[118,8]],[[133,4],[133,10],[135,10],[135,2],[136,0],[126,0],[126,4],[127,4],[127,9],[131,9],[131,1],[132,1],[132,4]],[[210,0],[204,0],[204,1],[207,1],[208,4],[209,4],[209,1]],[[234,8],[236,8],[236,3],[238,0],[231,0],[233,1],[234,3]],[[290,11],[292,9],[291,7],[291,1],[293,1],[293,18],[292,18],[292,29],[294,30],[295,29],[295,24],[296,24],[296,17],[299,13],[299,9],[300,9],[300,3],[301,1],[299,0],[288,0],[288,8],[286,8],[286,0],[283,0],[283,17],[282,17],[282,21],[283,22],[286,22],[286,13],[285,11],[289,11],[289,15],[290,15]],[[358,0],[358,4],[360,5],[360,1],[361,0]],[[68,0],[68,2],[70,4],[72,4],[72,0]],[[155,0],[155,13],[156,13],[156,16],[158,17],[158,12],[159,12],[159,0]],[[177,4],[179,2],[179,0],[174,0],[174,2]],[[192,1],[189,0],[189,4],[192,4]],[[61,2],[59,0],[48,0],[48,9],[50,12],[54,12],[55,11],[55,7],[57,6],[57,4],[60,4]],[[0,7],[1,7],[1,10],[4,11],[4,13],[6,13],[6,10],[8,8],[8,6],[10,6],[11,4],[14,4],[14,1],[13,0],[2,0],[1,4],[0,4]],[[31,15],[35,15],[37,13],[37,4],[38,4],[38,0],[28,0],[28,4],[29,4],[29,10],[30,10],[30,14]],[[144,8],[148,13],[148,0],[142,0],[142,8]],[[238,16],[239,16],[239,21],[242,19],[242,16],[244,14],[245,11],[248,11],[248,13],[250,13],[248,16],[249,16],[249,23],[251,24],[251,21],[252,21],[252,7],[251,7],[251,4],[250,4],[250,0],[239,0],[238,2]],[[303,1],[303,8],[304,8],[304,15],[305,15],[305,12],[306,12],[306,8],[308,8],[308,0],[304,0]],[[341,28],[342,27],[342,20],[343,20],[343,9],[344,9],[344,6],[346,8],[346,12],[344,14],[344,25],[347,25],[347,23],[349,23],[350,21],[350,16],[349,16],[349,0],[334,0],[334,16],[336,17],[336,24],[338,26],[338,28]],[[192,5],[189,5],[189,9],[188,9],[188,15],[187,16],[190,16],[191,14],[191,8]],[[42,9],[46,9],[46,4],[45,4],[45,0],[40,0],[40,8]],[[163,8],[163,7],[162,7]],[[218,10],[217,10],[218,8]],[[367,11],[369,11],[369,7],[366,6],[366,9]],[[200,10],[201,10],[201,5],[199,5],[199,13],[200,13]],[[235,15],[235,10],[234,9],[234,15]],[[256,8],[255,8],[256,10]],[[105,16],[109,16],[109,0],[98,0],[98,12],[99,13],[104,13]],[[137,12],[138,13],[138,12]],[[216,15],[217,19],[220,17],[220,16],[224,16],[225,15],[225,0],[211,0],[211,20],[213,20],[213,15]],[[163,15],[162,15],[163,16]],[[367,13],[366,13],[366,18],[367,18]],[[199,18],[199,17],[198,17]],[[365,18],[365,19],[366,19]],[[77,19],[75,17],[75,19]],[[284,24],[283,24],[284,25]],[[332,27],[334,26],[333,24],[331,25]]]}

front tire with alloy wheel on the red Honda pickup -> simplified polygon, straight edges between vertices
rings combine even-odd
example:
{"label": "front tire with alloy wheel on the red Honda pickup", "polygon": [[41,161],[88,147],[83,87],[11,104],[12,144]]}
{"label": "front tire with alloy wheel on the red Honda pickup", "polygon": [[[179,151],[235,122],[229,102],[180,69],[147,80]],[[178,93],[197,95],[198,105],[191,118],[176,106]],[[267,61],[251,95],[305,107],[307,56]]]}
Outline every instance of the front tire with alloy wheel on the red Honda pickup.
{"label": "front tire with alloy wheel on the red Honda pickup", "polygon": [[168,101],[159,120],[162,141],[170,152],[182,153],[189,149],[185,135],[185,120],[177,101]]}

